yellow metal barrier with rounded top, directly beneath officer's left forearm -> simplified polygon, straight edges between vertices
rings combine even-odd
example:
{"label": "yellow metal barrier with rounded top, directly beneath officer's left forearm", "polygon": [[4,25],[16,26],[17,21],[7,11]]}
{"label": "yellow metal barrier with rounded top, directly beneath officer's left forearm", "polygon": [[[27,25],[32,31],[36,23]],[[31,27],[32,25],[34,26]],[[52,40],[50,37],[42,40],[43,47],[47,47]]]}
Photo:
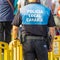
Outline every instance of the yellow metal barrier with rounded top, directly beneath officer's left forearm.
{"label": "yellow metal barrier with rounded top, directly beneath officer's left forearm", "polygon": [[9,44],[10,60],[23,60],[23,48],[19,40],[13,40]]}

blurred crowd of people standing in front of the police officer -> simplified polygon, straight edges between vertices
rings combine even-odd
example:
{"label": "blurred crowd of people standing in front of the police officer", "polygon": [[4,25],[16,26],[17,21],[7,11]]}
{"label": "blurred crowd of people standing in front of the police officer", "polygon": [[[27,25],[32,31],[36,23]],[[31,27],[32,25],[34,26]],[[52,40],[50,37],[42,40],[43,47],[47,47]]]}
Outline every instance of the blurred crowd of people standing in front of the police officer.
{"label": "blurred crowd of people standing in front of the police officer", "polygon": [[[40,3],[51,10],[56,23],[55,34],[60,35],[60,15],[57,15],[60,0],[40,0]],[[27,4],[27,0],[0,0],[0,41],[11,41],[11,22],[20,8]]]}

